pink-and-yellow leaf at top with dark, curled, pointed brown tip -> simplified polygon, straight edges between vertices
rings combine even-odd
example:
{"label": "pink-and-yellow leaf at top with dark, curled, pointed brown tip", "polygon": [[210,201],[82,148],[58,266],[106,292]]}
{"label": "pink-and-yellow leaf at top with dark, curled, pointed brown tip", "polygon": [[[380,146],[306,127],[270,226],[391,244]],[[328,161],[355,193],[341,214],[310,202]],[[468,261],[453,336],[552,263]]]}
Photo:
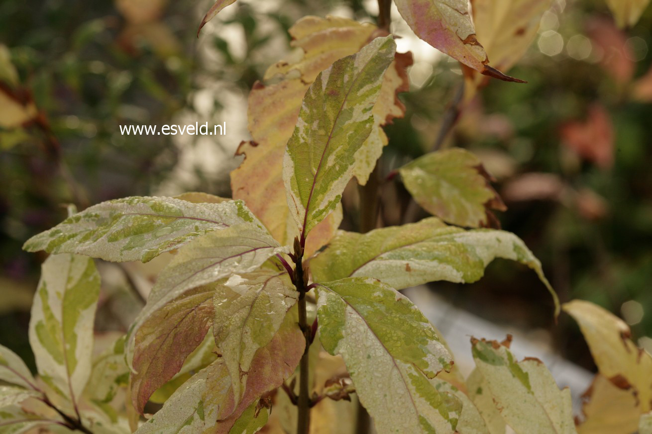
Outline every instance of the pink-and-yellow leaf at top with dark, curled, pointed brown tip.
{"label": "pink-and-yellow leaf at top with dark, curled, pointed brown tip", "polygon": [[467,0],[396,0],[395,3],[412,31],[437,50],[486,76],[525,83],[489,65],[487,53],[475,35]]}

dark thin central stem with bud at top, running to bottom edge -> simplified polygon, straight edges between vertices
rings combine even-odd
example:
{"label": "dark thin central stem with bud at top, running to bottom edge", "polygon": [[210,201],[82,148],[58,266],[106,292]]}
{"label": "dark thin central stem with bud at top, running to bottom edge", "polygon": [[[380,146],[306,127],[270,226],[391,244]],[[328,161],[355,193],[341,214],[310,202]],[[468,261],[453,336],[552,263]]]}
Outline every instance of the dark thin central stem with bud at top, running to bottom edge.
{"label": "dark thin central stem with bud at top, running to bottom edge", "polygon": [[[298,241],[298,240],[297,240]],[[297,434],[308,434],[310,431],[310,388],[308,387],[308,369],[310,343],[312,341],[312,328],[308,326],[308,317],[306,314],[306,282],[307,274],[303,269],[303,244],[304,242],[295,242],[295,268],[294,268],[294,285],[299,291],[299,328],[306,339],[306,348],[299,362],[299,398],[297,399]]]}

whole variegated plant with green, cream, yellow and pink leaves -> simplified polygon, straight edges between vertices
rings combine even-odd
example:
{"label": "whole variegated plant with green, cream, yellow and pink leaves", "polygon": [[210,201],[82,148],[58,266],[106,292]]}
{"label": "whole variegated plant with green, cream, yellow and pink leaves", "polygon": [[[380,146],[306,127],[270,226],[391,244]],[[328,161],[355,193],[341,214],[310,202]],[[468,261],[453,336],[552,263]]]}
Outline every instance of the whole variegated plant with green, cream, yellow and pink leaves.
{"label": "whole variegated plant with green, cream, yellow and pink leaves", "polygon": [[[467,94],[483,75],[521,81],[500,70],[551,3],[473,0],[475,29],[466,1],[396,0],[419,37],[464,65]],[[308,16],[291,27],[303,56],[271,66],[250,93],[233,199],[126,197],[25,242],[50,253],[29,324],[38,375],[0,347],[0,433],[340,434],[356,432],[359,406],[379,434],[652,432],[652,358],[611,313],[560,306],[524,242],[490,229],[505,207],[471,152],[436,150],[394,172],[432,217],[376,228],[375,205],[362,206],[364,233],[338,230],[345,188],[355,178],[368,194],[383,126],[405,111],[397,94],[412,57],[396,52],[390,5],[379,2],[378,26]],[[168,263],[126,336],[93,354],[93,258],[159,256]],[[471,338],[476,368],[464,378],[399,292],[475,282],[495,258],[531,268],[554,315],[563,307],[580,324],[599,368],[584,418],[541,361],[514,358],[509,337]],[[602,405],[614,397],[616,412]],[[152,402],[162,406],[150,414]]]}

